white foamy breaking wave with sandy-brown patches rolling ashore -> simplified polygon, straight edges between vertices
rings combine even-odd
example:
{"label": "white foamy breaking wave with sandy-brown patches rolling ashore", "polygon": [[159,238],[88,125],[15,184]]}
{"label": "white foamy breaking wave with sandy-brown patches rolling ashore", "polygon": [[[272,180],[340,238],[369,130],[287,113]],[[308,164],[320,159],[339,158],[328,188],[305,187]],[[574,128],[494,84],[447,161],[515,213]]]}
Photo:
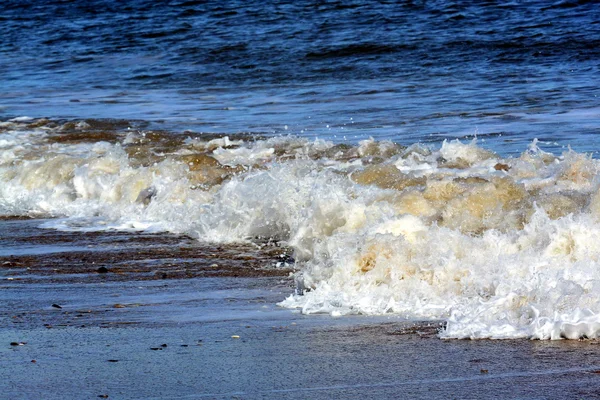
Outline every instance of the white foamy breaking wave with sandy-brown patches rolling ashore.
{"label": "white foamy breaking wave with sandy-brown patches rolling ashore", "polygon": [[281,305],[304,313],[442,319],[443,338],[600,335],[600,164],[586,155],[295,137],[168,147],[131,132],[66,142],[18,122],[0,131],[0,214],[280,240],[300,292]]}

